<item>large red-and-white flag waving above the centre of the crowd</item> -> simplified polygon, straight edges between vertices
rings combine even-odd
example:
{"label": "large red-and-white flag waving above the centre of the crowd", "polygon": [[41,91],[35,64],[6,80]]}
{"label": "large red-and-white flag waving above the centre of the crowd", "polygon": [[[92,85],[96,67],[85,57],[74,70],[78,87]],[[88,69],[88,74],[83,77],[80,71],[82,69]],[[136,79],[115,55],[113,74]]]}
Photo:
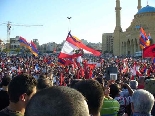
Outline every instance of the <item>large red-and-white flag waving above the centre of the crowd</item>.
{"label": "large red-and-white flag waving above the centre of the crowd", "polygon": [[83,44],[78,38],[68,33],[66,41],[62,47],[62,50],[59,54],[59,58],[74,58],[81,56],[83,53],[93,54],[95,56],[100,56],[101,53],[95,49],[89,48]]}

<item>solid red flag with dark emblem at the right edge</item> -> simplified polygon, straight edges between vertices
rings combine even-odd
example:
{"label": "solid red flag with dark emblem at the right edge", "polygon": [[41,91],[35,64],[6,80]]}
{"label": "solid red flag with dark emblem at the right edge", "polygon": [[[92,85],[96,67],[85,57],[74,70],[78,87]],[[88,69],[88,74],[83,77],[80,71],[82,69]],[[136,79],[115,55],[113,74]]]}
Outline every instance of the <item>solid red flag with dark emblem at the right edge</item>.
{"label": "solid red flag with dark emblem at the right edge", "polygon": [[143,58],[155,57],[155,44],[152,44],[143,49]]}

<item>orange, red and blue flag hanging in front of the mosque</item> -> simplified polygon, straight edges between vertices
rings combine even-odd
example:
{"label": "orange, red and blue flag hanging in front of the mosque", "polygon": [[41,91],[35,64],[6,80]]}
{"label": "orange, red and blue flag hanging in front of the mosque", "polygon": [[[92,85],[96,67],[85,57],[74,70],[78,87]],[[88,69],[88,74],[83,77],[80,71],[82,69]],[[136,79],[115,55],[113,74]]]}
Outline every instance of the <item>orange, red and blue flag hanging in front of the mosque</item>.
{"label": "orange, red and blue flag hanging in front of the mosque", "polygon": [[148,37],[150,36],[147,36],[144,29],[141,27],[140,37],[139,37],[139,44],[140,44],[141,49],[144,49],[145,47],[150,46],[150,40]]}

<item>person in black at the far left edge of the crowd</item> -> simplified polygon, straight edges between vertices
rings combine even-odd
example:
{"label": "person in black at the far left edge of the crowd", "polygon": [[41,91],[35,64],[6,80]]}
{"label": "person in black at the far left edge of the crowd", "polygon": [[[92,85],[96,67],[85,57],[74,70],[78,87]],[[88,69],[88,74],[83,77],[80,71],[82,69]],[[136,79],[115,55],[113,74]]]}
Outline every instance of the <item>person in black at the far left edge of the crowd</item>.
{"label": "person in black at the far left edge of the crowd", "polygon": [[0,110],[4,109],[9,105],[8,85],[10,81],[10,77],[5,76],[2,78],[2,88],[0,90]]}

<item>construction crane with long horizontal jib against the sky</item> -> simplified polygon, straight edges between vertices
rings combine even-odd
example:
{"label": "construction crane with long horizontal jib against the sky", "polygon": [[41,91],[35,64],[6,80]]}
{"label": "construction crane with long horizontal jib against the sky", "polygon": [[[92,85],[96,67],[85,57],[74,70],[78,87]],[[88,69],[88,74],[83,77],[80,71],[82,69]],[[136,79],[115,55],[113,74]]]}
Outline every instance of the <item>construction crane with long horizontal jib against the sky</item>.
{"label": "construction crane with long horizontal jib against the sky", "polygon": [[7,41],[6,43],[10,43],[10,32],[11,32],[11,27],[12,26],[25,26],[25,27],[32,27],[32,26],[43,26],[43,25],[16,25],[12,24],[12,22],[8,21],[7,23],[2,23],[0,25],[6,25],[7,26]]}

